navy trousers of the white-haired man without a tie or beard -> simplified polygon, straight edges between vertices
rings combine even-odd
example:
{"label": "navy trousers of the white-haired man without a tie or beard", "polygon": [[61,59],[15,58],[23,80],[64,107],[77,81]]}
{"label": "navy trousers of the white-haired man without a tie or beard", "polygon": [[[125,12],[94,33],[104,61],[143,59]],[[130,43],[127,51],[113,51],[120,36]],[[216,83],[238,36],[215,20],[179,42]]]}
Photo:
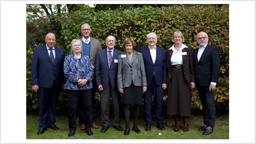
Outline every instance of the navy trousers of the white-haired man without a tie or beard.
{"label": "navy trousers of the white-haired man without a tie or beard", "polygon": [[157,85],[153,76],[152,83],[148,85],[147,91],[144,95],[144,110],[145,110],[145,122],[151,124],[151,103],[152,96],[154,95],[155,111],[156,111],[156,123],[160,124],[163,120],[163,87]]}

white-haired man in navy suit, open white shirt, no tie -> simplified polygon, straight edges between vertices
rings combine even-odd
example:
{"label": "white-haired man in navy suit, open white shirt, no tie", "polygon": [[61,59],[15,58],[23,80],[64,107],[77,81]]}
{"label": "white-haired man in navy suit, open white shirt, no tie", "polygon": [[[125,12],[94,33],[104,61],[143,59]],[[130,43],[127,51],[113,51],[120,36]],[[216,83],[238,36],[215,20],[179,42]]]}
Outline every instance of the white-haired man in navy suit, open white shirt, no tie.
{"label": "white-haired man in navy suit, open white shirt, no tie", "polygon": [[156,46],[156,33],[148,33],[148,47],[140,50],[143,55],[148,89],[144,94],[146,131],[151,131],[151,103],[154,96],[157,128],[165,130],[163,120],[163,89],[166,89],[167,65],[163,48]]}

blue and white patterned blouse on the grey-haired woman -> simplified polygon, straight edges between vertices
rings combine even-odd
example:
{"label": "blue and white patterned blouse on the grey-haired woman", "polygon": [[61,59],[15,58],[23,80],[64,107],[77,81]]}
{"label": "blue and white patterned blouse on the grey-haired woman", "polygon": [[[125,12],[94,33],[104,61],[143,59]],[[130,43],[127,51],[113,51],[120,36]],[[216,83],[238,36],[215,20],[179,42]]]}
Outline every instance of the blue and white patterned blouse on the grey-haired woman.
{"label": "blue and white patterned blouse on the grey-haired woman", "polygon": [[[92,63],[88,56],[81,54],[80,61],[73,53],[65,57],[64,75],[67,77],[65,89],[92,89],[92,73]],[[80,86],[76,82],[79,79],[87,79],[88,81],[84,86]]]}

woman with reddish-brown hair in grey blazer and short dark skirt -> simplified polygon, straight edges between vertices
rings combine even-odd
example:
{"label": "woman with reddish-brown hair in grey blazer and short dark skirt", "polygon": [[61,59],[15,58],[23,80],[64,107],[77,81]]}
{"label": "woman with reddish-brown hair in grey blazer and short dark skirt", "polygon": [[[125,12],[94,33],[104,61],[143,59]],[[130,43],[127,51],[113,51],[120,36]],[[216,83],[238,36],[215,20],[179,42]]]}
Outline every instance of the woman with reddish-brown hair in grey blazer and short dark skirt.
{"label": "woman with reddish-brown hair in grey blazer and short dark skirt", "polygon": [[140,104],[143,103],[142,93],[147,91],[147,78],[145,73],[143,56],[140,52],[133,50],[136,43],[130,37],[124,39],[125,51],[118,57],[117,87],[123,93],[125,132],[130,132],[130,105],[133,104],[134,122],[133,131],[140,133],[137,127]]}

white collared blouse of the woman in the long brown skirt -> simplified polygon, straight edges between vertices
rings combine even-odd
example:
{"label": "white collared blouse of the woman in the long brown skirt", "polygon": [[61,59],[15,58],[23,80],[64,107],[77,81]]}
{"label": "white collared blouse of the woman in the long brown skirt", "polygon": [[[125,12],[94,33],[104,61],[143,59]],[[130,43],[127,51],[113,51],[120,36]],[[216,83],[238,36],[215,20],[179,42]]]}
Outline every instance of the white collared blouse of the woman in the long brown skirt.
{"label": "white collared blouse of the woman in the long brown skirt", "polygon": [[174,48],[175,44],[169,48],[169,49],[172,49],[173,53],[172,53],[172,57],[171,57],[171,65],[177,65],[177,64],[183,64],[183,61],[182,61],[182,49],[184,48],[188,48],[186,45],[184,44],[181,44],[181,48],[179,50],[179,52],[176,52],[176,49]]}

